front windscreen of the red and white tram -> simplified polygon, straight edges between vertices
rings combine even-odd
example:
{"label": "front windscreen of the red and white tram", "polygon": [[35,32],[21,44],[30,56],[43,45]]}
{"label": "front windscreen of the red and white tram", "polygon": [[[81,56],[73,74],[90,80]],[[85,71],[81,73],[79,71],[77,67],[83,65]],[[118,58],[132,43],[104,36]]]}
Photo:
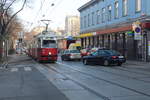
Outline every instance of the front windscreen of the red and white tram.
{"label": "front windscreen of the red and white tram", "polygon": [[55,40],[43,40],[42,43],[43,48],[56,48]]}

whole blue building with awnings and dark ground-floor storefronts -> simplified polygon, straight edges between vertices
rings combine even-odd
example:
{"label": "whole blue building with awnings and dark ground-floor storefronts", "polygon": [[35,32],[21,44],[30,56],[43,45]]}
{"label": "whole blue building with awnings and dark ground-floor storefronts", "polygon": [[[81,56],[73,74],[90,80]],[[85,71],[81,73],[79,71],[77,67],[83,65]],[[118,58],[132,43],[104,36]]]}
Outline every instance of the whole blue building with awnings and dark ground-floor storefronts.
{"label": "whole blue building with awnings and dark ground-floor storefronts", "polygon": [[150,59],[150,0],[91,0],[81,6],[84,48],[106,47],[131,60]]}

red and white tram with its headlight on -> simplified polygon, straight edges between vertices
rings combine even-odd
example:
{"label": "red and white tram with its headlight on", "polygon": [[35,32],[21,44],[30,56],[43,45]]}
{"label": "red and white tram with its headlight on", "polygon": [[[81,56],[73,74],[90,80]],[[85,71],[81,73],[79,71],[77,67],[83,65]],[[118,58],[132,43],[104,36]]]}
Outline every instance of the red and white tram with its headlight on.
{"label": "red and white tram with its headlight on", "polygon": [[34,37],[30,48],[29,55],[37,61],[57,61],[57,41],[54,35],[40,34]]}

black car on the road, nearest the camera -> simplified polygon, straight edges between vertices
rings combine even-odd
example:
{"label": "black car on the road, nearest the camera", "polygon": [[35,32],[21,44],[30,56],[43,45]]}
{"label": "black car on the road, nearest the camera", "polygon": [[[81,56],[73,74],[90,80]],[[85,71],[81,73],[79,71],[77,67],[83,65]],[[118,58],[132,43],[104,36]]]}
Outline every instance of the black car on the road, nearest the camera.
{"label": "black car on the road, nearest the camera", "polygon": [[121,66],[122,63],[125,63],[125,61],[125,57],[114,50],[98,49],[90,55],[83,57],[83,64],[85,65],[102,64],[104,66],[108,66],[110,64],[117,64],[118,66]]}

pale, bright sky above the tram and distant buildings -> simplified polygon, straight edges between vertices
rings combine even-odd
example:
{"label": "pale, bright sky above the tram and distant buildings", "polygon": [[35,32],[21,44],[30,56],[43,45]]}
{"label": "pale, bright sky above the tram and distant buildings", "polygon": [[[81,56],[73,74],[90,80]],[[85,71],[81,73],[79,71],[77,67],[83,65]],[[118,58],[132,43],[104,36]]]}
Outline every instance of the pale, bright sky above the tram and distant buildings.
{"label": "pale, bright sky above the tram and distant buildings", "polygon": [[[40,21],[43,19],[51,20],[49,27],[52,29],[64,28],[65,17],[79,15],[77,9],[88,1],[90,0],[30,0],[24,10],[18,14],[18,18],[28,30],[36,26],[44,26]],[[19,9],[21,4],[17,2],[13,6],[14,11]]]}

